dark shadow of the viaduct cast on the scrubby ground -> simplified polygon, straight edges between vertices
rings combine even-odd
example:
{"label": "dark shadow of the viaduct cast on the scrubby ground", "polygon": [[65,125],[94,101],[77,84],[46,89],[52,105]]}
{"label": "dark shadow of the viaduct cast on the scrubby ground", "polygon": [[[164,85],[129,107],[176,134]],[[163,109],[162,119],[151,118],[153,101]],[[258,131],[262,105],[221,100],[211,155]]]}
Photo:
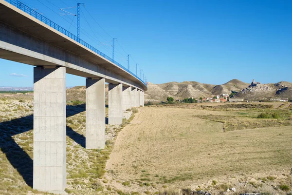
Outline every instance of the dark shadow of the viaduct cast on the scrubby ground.
{"label": "dark shadow of the viaduct cast on the scrubby ground", "polygon": [[[66,106],[67,117],[85,111],[85,104]],[[16,118],[0,122],[0,150],[6,155],[10,164],[23,177],[27,185],[33,187],[33,159],[14,141],[12,136],[27,132],[34,127],[34,116]],[[66,134],[76,143],[85,147],[85,137],[67,126]]]}

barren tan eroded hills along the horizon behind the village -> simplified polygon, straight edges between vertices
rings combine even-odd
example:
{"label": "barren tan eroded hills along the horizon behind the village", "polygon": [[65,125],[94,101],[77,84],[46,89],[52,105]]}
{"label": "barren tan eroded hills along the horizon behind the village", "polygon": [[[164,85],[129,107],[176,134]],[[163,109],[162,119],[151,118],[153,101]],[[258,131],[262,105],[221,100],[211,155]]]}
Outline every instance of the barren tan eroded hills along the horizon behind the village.
{"label": "barren tan eroded hills along the horizon behind the village", "polygon": [[[195,81],[168,82],[154,84],[148,82],[148,90],[145,92],[145,101],[165,101],[167,97],[174,99],[204,98],[219,94],[231,94],[237,92],[238,98],[262,99],[262,98],[292,98],[292,83],[281,81],[278,83],[261,84],[260,88],[249,87],[250,83],[232,79],[221,85],[200,83]],[[243,93],[242,90],[245,92]],[[109,87],[106,85],[106,97]],[[85,101],[85,86],[76,86],[67,89],[67,100]]]}

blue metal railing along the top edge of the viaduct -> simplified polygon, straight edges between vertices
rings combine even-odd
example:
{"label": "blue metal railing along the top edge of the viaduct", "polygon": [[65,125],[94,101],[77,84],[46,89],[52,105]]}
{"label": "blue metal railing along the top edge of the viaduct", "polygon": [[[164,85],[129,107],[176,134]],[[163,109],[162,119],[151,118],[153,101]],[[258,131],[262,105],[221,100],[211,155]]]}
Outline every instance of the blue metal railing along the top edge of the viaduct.
{"label": "blue metal railing along the top edge of the viaduct", "polygon": [[110,57],[108,57],[107,55],[105,55],[101,51],[97,50],[96,48],[94,48],[93,46],[91,46],[90,44],[88,44],[87,42],[85,42],[84,40],[82,40],[80,38],[77,38],[77,36],[73,35],[68,30],[65,30],[63,27],[59,26],[58,24],[56,24],[52,20],[50,20],[50,19],[44,17],[43,15],[39,14],[34,9],[28,7],[24,3],[22,3],[22,2],[20,2],[18,0],[5,0],[5,1],[8,2],[8,3],[10,3],[10,4],[12,4],[12,5],[14,5],[18,9],[24,11],[25,13],[29,14],[30,16],[36,18],[37,20],[40,20],[41,22],[49,25],[50,27],[54,28],[55,30],[59,31],[60,33],[63,33],[67,37],[69,37],[69,38],[77,41],[78,43],[84,45],[85,47],[89,48],[91,51],[93,51],[96,54],[102,56],[103,58],[108,59],[109,61],[111,61],[112,63],[118,65],[119,67],[121,67],[122,69],[124,69],[125,71],[127,71],[128,73],[130,73],[131,75],[133,75],[134,77],[138,78],[141,82],[143,82],[147,86],[146,82],[144,82],[141,78],[139,78],[137,75],[135,75],[134,73],[132,73],[126,67],[124,67],[123,65],[121,65],[117,61],[111,59]]}

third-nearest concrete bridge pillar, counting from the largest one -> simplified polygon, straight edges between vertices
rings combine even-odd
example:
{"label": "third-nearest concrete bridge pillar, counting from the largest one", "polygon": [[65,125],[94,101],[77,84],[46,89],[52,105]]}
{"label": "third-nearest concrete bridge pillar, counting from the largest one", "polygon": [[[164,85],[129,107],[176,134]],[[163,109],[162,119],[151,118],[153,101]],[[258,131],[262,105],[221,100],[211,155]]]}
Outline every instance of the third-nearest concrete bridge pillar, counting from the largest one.
{"label": "third-nearest concrete bridge pillar, counting from the largest one", "polygon": [[123,84],[109,83],[109,125],[123,122]]}

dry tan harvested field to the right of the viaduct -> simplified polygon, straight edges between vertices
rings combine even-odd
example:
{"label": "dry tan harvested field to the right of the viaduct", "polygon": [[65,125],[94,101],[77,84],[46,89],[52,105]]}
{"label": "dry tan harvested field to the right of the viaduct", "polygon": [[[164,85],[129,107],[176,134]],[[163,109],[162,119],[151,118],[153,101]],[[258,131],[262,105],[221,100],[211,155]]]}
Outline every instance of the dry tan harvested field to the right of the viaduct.
{"label": "dry tan harvested field to the right of the viaduct", "polygon": [[291,189],[291,126],[223,132],[222,123],[193,117],[205,112],[140,109],[117,137],[107,162],[109,185],[139,193],[188,187],[219,194],[235,187],[284,195],[279,185]]}

